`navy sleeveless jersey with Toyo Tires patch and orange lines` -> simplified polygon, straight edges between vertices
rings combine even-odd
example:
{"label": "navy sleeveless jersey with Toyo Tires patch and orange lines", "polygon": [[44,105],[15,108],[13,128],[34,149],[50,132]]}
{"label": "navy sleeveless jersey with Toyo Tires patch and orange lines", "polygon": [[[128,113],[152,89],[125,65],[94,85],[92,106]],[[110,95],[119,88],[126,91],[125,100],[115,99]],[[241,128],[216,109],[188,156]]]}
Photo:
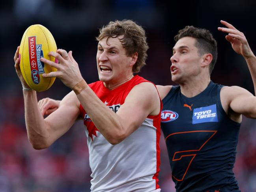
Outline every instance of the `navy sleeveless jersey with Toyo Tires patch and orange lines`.
{"label": "navy sleeveless jersey with Toyo Tires patch and orange lines", "polygon": [[222,87],[210,82],[188,98],[173,86],[163,99],[161,129],[177,192],[239,192],[232,169],[240,124],[222,108]]}

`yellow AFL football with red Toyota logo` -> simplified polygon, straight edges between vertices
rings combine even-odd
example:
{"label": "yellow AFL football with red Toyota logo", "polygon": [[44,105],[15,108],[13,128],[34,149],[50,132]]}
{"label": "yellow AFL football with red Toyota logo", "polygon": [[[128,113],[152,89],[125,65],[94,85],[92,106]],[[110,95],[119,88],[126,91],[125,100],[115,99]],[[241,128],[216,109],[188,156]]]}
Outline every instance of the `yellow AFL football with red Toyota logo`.
{"label": "yellow AFL football with red Toyota logo", "polygon": [[43,78],[42,74],[57,69],[41,62],[40,58],[58,63],[56,58],[48,55],[50,51],[56,50],[55,40],[46,27],[36,24],[27,28],[21,39],[19,59],[22,76],[30,88],[45,91],[52,86],[55,77]]}

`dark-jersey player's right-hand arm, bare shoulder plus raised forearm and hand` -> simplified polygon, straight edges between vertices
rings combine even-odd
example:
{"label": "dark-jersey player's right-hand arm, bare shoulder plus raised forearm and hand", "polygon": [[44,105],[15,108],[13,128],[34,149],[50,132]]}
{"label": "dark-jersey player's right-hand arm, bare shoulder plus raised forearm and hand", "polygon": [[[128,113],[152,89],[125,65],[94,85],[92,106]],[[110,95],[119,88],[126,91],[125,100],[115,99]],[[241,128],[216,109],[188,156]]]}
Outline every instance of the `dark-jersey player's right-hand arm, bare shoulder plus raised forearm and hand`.
{"label": "dark-jersey player's right-hand arm, bare shoulder plus raised forearm and hand", "polygon": [[[226,21],[220,21],[225,27],[218,27],[219,31],[228,33],[226,40],[232,45],[237,54],[241,54],[250,70],[256,92],[256,57],[253,54],[245,35],[237,30],[232,24]],[[234,121],[241,121],[241,114],[249,118],[256,118],[256,97],[249,91],[238,86],[224,87],[220,92],[221,103]]]}

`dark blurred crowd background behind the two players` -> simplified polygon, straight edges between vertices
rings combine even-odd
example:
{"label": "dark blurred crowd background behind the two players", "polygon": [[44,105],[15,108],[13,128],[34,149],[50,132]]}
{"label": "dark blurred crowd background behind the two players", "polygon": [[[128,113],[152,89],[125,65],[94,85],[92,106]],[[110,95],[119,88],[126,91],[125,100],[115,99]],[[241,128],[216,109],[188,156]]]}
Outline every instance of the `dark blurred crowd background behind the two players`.
{"label": "dark blurred crowd background behind the two players", "polygon": [[[99,28],[109,21],[133,19],[148,37],[147,65],[139,73],[155,84],[174,83],[170,56],[174,35],[186,25],[209,29],[218,41],[219,55],[212,80],[237,85],[254,94],[243,57],[237,55],[217,30],[220,20],[232,23],[247,37],[256,53],[256,1],[161,0],[8,0],[0,6],[0,192],[89,192],[91,170],[86,135],[81,121],[52,144],[35,150],[26,136],[22,86],[13,56],[21,37],[32,24],[47,27],[58,48],[72,50],[84,79],[98,79],[96,69]],[[37,94],[38,99],[62,99],[69,93],[60,80]],[[223,127],[224,129],[224,127]],[[174,192],[168,155],[161,136],[162,192]],[[234,172],[243,192],[256,192],[256,120],[243,117]]]}

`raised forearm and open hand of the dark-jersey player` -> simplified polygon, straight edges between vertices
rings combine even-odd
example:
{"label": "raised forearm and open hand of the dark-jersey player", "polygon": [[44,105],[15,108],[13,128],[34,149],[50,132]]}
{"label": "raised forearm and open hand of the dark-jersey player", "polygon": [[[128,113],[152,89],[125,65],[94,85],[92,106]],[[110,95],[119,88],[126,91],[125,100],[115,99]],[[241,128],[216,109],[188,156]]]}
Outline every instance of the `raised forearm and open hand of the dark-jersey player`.
{"label": "raised forearm and open hand of the dark-jersey player", "polygon": [[237,30],[232,24],[226,21],[220,21],[225,27],[218,27],[219,31],[228,33],[226,35],[227,41],[232,45],[232,48],[237,54],[242,55],[247,62],[252,81],[254,84],[254,94],[256,93],[256,57],[253,54],[245,35]]}

